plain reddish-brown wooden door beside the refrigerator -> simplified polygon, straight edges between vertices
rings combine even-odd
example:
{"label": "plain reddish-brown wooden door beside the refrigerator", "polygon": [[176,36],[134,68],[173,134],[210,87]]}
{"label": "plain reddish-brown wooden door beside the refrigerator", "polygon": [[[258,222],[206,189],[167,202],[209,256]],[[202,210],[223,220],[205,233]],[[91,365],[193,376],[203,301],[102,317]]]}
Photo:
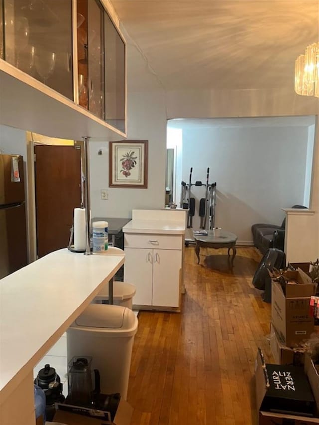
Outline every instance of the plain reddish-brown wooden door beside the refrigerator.
{"label": "plain reddish-brown wooden door beside the refrigerator", "polygon": [[37,255],[69,243],[73,210],[81,204],[81,151],[74,146],[36,145]]}

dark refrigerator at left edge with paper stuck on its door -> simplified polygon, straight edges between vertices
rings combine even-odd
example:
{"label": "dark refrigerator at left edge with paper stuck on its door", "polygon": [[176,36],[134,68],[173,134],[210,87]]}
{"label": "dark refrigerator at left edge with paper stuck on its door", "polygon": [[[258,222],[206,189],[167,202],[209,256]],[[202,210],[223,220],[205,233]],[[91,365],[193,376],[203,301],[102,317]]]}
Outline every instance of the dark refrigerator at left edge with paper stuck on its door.
{"label": "dark refrigerator at left edge with paper stuck on its door", "polygon": [[27,264],[23,157],[0,154],[0,279]]}

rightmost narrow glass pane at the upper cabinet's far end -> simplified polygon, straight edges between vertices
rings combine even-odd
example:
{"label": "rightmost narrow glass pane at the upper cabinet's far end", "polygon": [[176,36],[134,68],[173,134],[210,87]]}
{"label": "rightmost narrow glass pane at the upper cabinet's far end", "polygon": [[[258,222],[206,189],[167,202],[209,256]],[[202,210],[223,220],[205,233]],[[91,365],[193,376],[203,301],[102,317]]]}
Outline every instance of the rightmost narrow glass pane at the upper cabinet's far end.
{"label": "rightmost narrow glass pane at the upper cabinet's far end", "polygon": [[125,132],[125,44],[104,14],[105,121]]}

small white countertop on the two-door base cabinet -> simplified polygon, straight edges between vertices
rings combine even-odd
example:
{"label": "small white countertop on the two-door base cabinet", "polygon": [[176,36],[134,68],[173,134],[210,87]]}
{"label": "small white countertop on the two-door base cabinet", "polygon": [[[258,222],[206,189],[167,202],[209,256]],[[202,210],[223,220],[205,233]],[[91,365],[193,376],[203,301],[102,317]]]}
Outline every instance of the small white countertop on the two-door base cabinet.
{"label": "small white countertop on the two-door base cabinet", "polygon": [[184,235],[185,225],[180,222],[160,220],[131,220],[123,227],[124,233],[156,233],[168,235]]}

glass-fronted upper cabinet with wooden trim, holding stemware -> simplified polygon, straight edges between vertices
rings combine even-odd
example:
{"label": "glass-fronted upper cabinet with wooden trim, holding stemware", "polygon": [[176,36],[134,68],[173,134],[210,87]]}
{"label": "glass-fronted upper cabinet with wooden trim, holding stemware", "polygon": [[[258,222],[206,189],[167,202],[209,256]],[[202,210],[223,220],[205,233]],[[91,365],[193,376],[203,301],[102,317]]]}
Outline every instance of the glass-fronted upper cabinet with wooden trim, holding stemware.
{"label": "glass-fronted upper cabinet with wooden trim, holding stemware", "polygon": [[0,59],[43,85],[0,63],[7,75],[125,136],[125,41],[103,1],[0,0]]}

